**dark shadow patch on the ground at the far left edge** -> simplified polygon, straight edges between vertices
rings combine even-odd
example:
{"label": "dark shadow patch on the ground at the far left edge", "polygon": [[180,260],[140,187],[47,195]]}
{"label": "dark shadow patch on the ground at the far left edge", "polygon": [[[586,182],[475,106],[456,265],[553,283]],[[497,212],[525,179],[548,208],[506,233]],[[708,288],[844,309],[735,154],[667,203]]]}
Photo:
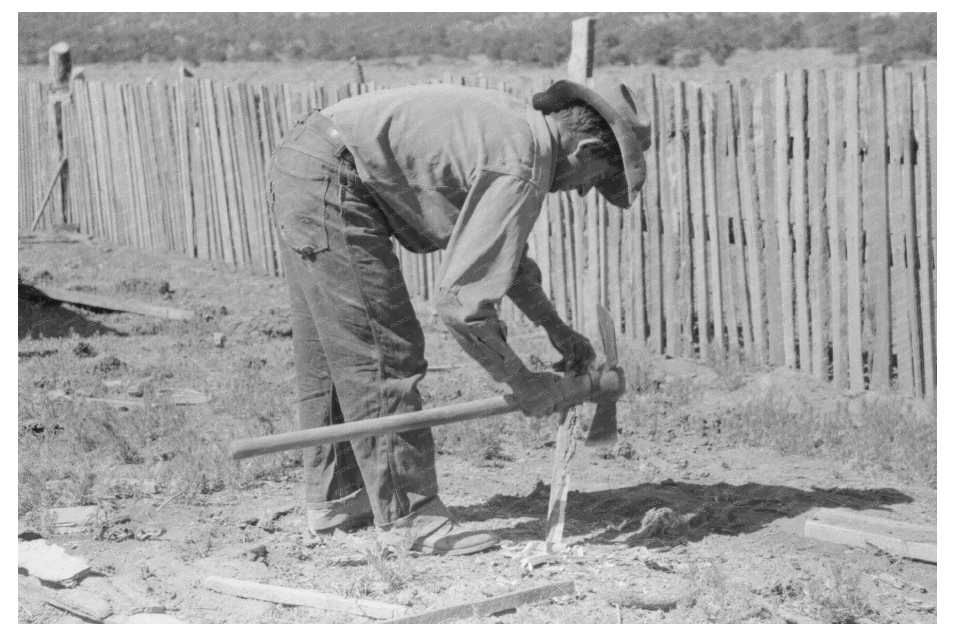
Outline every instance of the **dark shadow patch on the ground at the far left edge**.
{"label": "dark shadow patch on the ground at the far left edge", "polygon": [[20,340],[66,338],[71,332],[80,337],[91,335],[126,335],[90,320],[46,297],[31,285],[20,284],[17,295],[17,333]]}

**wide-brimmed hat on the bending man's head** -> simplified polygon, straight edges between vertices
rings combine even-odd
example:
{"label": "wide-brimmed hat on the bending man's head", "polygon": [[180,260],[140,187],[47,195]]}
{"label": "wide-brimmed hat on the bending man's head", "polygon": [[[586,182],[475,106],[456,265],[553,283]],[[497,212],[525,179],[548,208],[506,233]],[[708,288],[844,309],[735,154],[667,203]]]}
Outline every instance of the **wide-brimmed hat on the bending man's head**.
{"label": "wide-brimmed hat on the bending man's head", "polygon": [[621,174],[597,183],[597,190],[617,207],[628,207],[647,179],[644,151],[650,147],[650,127],[637,113],[633,95],[624,84],[613,92],[610,100],[583,84],[562,79],[554,82],[543,93],[534,95],[531,103],[544,115],[571,106],[589,104],[604,117],[613,136],[617,138],[624,160]]}

